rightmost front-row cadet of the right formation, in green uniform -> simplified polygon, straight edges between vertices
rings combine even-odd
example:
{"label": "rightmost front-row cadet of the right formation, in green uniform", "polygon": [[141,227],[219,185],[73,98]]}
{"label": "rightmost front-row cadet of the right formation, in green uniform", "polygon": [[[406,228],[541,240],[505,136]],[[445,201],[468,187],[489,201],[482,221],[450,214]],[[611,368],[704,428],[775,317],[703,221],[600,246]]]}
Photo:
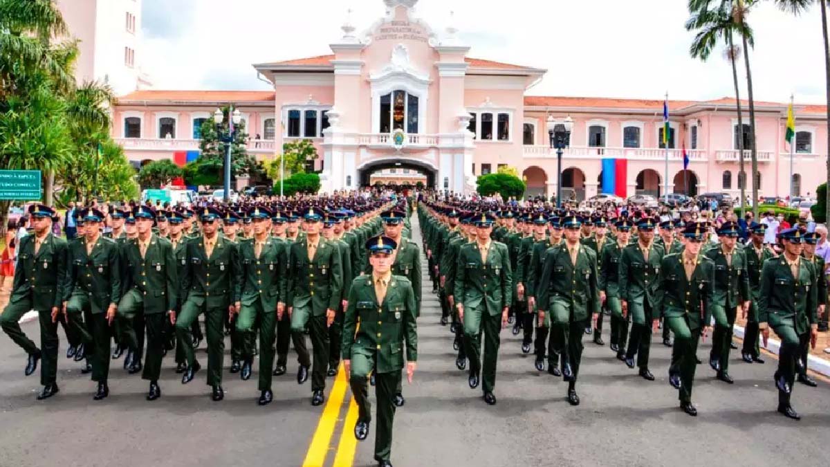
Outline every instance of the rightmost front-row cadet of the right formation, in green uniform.
{"label": "rightmost front-row cadet of the right formation, in green uniform", "polygon": [[801,420],[790,397],[801,351],[799,336],[809,333],[813,348],[818,338],[815,272],[812,265],[801,258],[803,235],[798,228],[784,230],[780,238],[784,253],[779,258],[769,259],[761,270],[758,322],[764,347],[770,327],[781,339],[778,371],[773,376],[779,390],[778,411],[793,420]]}

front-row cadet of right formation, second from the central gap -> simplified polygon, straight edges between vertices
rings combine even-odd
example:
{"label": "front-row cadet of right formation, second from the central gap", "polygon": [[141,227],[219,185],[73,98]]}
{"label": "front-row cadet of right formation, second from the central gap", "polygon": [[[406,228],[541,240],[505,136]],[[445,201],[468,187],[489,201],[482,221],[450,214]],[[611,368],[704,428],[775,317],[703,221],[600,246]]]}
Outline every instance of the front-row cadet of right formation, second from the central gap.
{"label": "front-row cadet of right formation, second from the central gap", "polygon": [[568,381],[568,402],[572,406],[579,406],[576,380],[582,361],[582,336],[600,312],[597,254],[579,243],[580,224],[581,219],[575,215],[562,219],[565,241],[544,253],[544,268],[536,286],[540,327],[559,328],[564,336],[562,376]]}

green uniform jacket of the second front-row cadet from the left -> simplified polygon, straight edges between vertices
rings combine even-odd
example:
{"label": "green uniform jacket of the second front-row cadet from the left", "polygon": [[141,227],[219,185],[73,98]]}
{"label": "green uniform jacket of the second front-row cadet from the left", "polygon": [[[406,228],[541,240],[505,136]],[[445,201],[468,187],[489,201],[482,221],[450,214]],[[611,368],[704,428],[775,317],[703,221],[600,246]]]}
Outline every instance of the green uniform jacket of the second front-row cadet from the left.
{"label": "green uniform jacket of the second front-row cadet from the left", "polygon": [[64,301],[73,293],[90,298],[93,314],[104,313],[111,303],[121,299],[121,268],[118,243],[99,236],[92,253],[86,254],[86,238],[70,247],[69,283],[64,289]]}

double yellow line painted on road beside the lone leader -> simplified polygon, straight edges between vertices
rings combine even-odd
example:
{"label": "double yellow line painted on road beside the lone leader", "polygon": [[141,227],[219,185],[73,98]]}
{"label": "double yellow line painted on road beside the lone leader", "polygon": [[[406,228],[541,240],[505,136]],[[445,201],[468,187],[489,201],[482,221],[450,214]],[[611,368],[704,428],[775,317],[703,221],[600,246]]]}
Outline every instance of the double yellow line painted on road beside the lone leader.
{"label": "double yellow line painted on road beside the lone leader", "polygon": [[[346,401],[346,392],[349,388],[349,381],[346,378],[345,370],[341,364],[334,378],[334,386],[331,388],[329,401],[325,403],[323,414],[317,423],[314,437],[311,439],[309,450],[305,453],[303,467],[324,467],[325,460],[332,449],[332,438],[334,430],[340,421],[340,409]],[[358,420],[358,406],[351,396],[349,409],[346,418],[340,425],[340,440],[337,450],[334,451],[334,467],[352,467],[354,463],[354,451],[357,450],[358,441],[354,438],[352,427]]]}

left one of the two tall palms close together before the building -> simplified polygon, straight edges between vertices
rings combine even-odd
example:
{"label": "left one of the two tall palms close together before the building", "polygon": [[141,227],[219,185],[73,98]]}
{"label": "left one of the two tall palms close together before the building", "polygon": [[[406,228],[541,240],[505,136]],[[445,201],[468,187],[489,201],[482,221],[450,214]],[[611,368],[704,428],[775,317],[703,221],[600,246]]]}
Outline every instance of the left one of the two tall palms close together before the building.
{"label": "left one of the two tall palms close together before the building", "polygon": [[[722,40],[726,45],[726,58],[732,65],[732,81],[735,86],[735,106],[738,111],[738,128],[743,135],[744,121],[740,106],[740,86],[738,86],[738,67],[735,61],[740,57],[740,47],[733,42],[735,23],[732,15],[732,1],[722,0],[718,7],[710,9],[712,0],[689,0],[691,17],[686,21],[686,31],[697,31],[689,47],[689,54],[702,61],[709,59],[712,50]],[[738,138],[738,185],[740,188],[740,214],[744,216],[746,199],[746,172],[744,170],[744,138]],[[757,199],[757,197],[755,198]],[[757,219],[757,218],[756,218]]]}

